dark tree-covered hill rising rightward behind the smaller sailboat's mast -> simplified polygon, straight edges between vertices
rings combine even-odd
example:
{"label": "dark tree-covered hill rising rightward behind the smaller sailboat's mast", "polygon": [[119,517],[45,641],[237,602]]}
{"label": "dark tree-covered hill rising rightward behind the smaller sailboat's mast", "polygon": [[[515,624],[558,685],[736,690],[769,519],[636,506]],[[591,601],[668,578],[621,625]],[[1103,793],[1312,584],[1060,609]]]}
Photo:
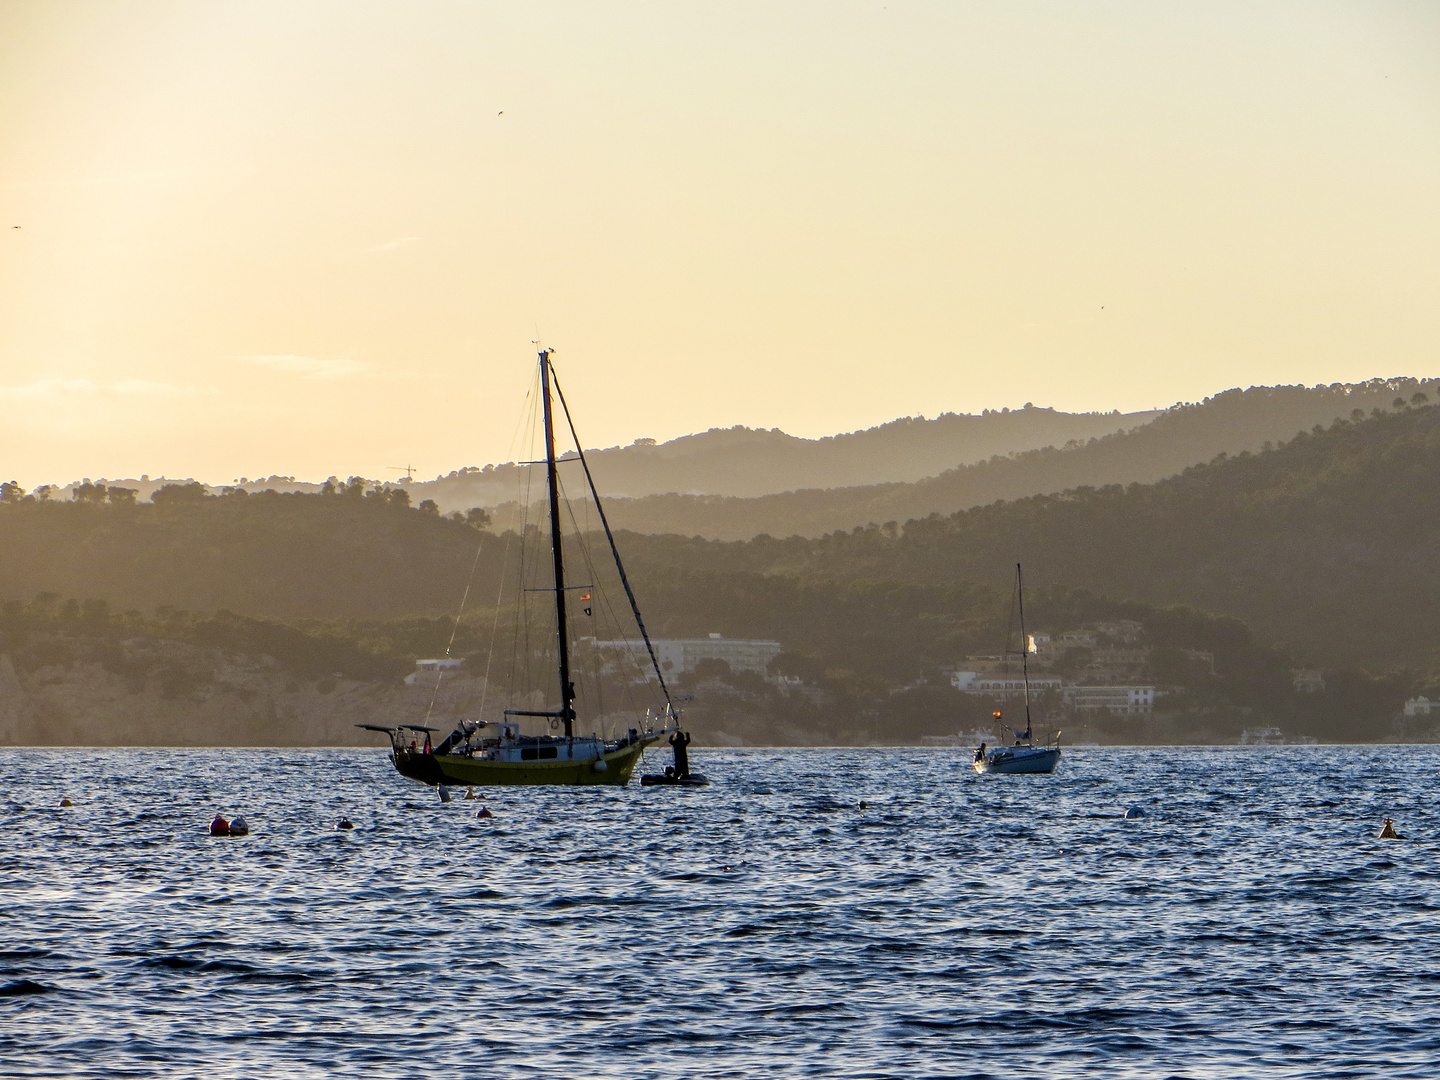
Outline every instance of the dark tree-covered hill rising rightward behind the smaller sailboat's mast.
{"label": "dark tree-covered hill rising rightward behind the smaller sailboat's mast", "polygon": [[749,543],[651,537],[641,573],[996,582],[1234,615],[1316,662],[1430,665],[1440,647],[1440,408],[1336,420],[1158,484],[1077,488],[903,527]]}

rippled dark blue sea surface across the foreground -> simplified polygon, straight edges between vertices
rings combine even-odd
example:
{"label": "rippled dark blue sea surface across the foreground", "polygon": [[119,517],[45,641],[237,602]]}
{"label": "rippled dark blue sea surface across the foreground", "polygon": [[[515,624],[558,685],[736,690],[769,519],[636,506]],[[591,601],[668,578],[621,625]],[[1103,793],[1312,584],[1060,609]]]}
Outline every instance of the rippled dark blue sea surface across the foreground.
{"label": "rippled dark blue sea surface across the foreground", "polygon": [[1440,1074],[1440,750],[968,757],[4,750],[0,1076]]}

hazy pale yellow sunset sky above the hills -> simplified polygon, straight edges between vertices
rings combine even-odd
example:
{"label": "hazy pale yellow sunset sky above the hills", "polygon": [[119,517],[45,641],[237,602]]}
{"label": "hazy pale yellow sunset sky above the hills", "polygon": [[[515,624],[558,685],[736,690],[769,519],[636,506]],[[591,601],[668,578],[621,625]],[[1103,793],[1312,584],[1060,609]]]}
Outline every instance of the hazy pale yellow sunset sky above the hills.
{"label": "hazy pale yellow sunset sky above the hills", "polygon": [[0,0],[0,480],[503,461],[537,334],[595,445],[1440,374],[1437,58],[1436,3]]}

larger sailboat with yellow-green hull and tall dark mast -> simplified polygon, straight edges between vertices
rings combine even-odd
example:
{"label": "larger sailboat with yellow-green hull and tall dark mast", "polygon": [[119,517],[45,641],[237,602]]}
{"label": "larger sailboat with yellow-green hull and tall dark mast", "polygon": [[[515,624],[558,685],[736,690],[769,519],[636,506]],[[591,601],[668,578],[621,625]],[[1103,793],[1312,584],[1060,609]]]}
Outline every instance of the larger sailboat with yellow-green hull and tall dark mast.
{"label": "larger sailboat with yellow-green hull and tall dark mast", "polygon": [[[557,708],[507,708],[504,719],[498,723],[485,720],[465,720],[451,732],[441,743],[432,743],[431,736],[439,729],[425,724],[397,724],[396,727],[382,727],[379,724],[356,724],[370,732],[383,732],[390,737],[390,760],[395,768],[413,780],[431,786],[494,786],[494,785],[619,785],[629,783],[635,765],[639,762],[645,747],[680,732],[680,714],[675,711],[665,685],[665,675],[660,670],[655,658],[655,648],[645,631],[645,621],[641,618],[639,603],[631,589],[629,577],[621,562],[619,549],[615,546],[615,534],[611,531],[609,520],[605,517],[599,492],[595,490],[595,480],[590,475],[589,462],[580,448],[579,436],[575,435],[575,422],[570,419],[570,408],[564,402],[559,380],[554,379],[550,367],[553,350],[540,350],[540,400],[544,415],[544,461],[534,462],[546,467],[546,491],[549,495],[550,517],[550,562],[552,582],[540,592],[554,595],[556,616],[556,677],[559,681]],[[645,649],[665,698],[664,710],[658,717],[647,713],[644,730],[631,727],[619,739],[605,739],[600,734],[576,734],[577,713],[575,708],[576,688],[570,671],[570,621],[566,606],[566,564],[564,544],[562,539],[562,501],[560,482],[557,475],[557,458],[554,454],[554,409],[552,402],[552,386],[564,409],[566,423],[570,435],[575,436],[576,454],[580,467],[585,469],[585,480],[589,485],[590,498],[599,513],[600,524],[605,527],[605,537],[609,541],[611,554],[621,585],[629,599],[631,612],[639,628]],[[566,461],[573,458],[566,456]],[[494,644],[494,642],[492,642]],[[560,734],[521,734],[520,719],[534,717],[549,721],[552,730]],[[655,723],[660,727],[655,727]],[[423,744],[420,739],[423,737]],[[445,793],[444,791],[441,792]]]}

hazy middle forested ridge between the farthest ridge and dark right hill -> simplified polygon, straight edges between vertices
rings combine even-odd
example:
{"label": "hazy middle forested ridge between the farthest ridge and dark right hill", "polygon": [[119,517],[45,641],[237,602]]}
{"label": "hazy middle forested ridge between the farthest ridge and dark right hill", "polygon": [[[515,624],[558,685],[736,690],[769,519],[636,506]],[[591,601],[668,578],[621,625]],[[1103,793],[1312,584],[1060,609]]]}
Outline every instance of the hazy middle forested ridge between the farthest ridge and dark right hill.
{"label": "hazy middle forested ridge between the farthest ridge and dark right hill", "polygon": [[[1437,396],[1434,383],[1413,379],[1227,390],[1200,405],[1168,409],[1132,431],[995,456],[913,484],[786,491],[759,498],[651,495],[609,500],[608,508],[612,521],[638,533],[716,540],[747,540],[762,533],[822,536],[857,524],[950,514],[996,500],[1077,487],[1149,484],[1217,454],[1259,452],[1266,444],[1282,442],[1316,423],[1390,409],[1397,395],[1408,403],[1416,393]],[[595,464],[593,471],[602,484],[603,465]],[[501,521],[510,513],[511,507],[495,510]]]}

